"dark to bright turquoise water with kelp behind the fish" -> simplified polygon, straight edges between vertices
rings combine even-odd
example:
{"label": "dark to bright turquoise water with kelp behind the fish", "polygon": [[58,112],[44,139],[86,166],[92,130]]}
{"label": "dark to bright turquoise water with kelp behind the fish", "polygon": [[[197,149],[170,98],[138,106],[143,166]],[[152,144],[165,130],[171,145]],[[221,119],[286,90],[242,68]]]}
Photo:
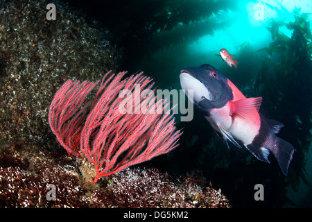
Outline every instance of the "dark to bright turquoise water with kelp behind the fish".
{"label": "dark to bright turquoise water with kelp behind the fish", "polygon": [[[210,64],[245,96],[263,96],[260,112],[284,123],[278,136],[297,149],[285,177],[272,155],[267,164],[245,149],[228,150],[195,110],[192,121],[177,122],[181,145],[148,166],[173,175],[201,171],[233,207],[312,207],[311,1],[80,4],[73,3],[107,26],[123,49],[121,69],[144,71],[159,88],[180,89],[181,69]],[[239,60],[238,69],[218,56],[223,48]],[[254,200],[256,184],[263,185],[264,200]]]}

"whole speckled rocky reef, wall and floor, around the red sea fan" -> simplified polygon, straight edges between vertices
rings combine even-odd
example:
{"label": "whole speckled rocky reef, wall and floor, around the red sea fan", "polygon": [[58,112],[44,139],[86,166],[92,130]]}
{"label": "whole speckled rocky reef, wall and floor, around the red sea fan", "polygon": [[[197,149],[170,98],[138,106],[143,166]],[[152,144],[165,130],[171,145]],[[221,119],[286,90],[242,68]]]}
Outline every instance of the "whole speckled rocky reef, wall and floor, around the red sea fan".
{"label": "whole speckled rocky reef, wall and floor, around the red sea fan", "polygon": [[48,3],[1,1],[0,207],[230,207],[193,174],[132,167],[94,185],[92,166],[67,156],[49,128],[53,95],[67,79],[120,71],[121,52],[109,31],[62,2],[47,20]]}

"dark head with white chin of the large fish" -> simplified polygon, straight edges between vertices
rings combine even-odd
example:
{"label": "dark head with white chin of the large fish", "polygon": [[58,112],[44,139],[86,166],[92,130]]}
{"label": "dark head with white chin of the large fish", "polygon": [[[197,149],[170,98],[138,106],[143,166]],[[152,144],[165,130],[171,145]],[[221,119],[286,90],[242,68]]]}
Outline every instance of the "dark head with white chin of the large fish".
{"label": "dark head with white chin of the large fish", "polygon": [[[211,65],[182,69],[180,83],[193,103],[200,104],[205,101],[210,104],[209,108],[223,107],[233,99],[227,78]],[[190,89],[193,89],[193,96],[188,93]]]}

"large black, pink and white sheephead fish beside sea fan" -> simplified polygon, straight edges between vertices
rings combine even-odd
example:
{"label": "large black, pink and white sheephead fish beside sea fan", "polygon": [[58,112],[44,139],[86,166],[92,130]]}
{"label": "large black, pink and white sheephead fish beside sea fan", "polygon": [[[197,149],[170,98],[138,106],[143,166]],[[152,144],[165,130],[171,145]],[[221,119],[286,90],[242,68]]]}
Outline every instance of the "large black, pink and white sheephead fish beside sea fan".
{"label": "large black, pink and white sheephead fish beside sea fan", "polygon": [[[225,144],[227,139],[239,148],[243,144],[258,160],[268,163],[268,155],[272,152],[287,176],[295,148],[275,135],[283,123],[259,113],[262,97],[246,98],[211,65],[182,69],[180,83]],[[188,93],[190,89],[193,89],[193,96]]]}

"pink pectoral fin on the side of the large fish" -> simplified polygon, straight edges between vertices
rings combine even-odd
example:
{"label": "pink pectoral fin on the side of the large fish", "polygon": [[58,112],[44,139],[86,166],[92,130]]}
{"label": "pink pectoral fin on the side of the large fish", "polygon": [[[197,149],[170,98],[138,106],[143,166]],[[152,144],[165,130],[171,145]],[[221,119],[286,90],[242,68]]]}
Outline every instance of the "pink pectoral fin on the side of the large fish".
{"label": "pink pectoral fin on the side of the large fish", "polygon": [[240,99],[237,101],[229,101],[230,111],[229,114],[231,116],[238,115],[244,119],[252,118],[253,110],[259,111],[261,106],[262,97],[251,97],[246,99]]}

